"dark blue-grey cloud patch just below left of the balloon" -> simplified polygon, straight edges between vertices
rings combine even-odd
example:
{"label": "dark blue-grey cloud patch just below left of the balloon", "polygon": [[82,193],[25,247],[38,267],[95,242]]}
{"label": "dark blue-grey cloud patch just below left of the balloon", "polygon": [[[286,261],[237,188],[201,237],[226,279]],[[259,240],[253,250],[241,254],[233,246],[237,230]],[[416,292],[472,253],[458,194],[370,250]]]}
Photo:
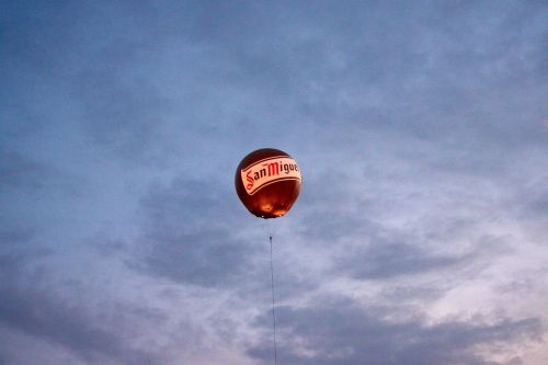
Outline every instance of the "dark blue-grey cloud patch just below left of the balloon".
{"label": "dark blue-grey cloud patch just below left of the balloon", "polygon": [[183,179],[152,187],[141,199],[142,255],[130,265],[178,283],[243,285],[256,270],[258,248],[239,235],[224,192],[207,181]]}

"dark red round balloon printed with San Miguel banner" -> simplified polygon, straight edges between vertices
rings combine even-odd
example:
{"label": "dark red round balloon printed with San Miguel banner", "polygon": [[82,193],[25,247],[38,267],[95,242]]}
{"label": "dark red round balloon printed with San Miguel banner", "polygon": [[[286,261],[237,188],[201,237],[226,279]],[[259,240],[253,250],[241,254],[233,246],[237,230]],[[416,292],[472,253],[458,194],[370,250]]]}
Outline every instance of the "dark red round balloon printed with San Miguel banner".
{"label": "dark red round balloon printed with San Miguel banner", "polygon": [[251,214],[264,219],[285,215],[300,193],[300,169],[289,155],[274,148],[258,149],[236,169],[235,185]]}

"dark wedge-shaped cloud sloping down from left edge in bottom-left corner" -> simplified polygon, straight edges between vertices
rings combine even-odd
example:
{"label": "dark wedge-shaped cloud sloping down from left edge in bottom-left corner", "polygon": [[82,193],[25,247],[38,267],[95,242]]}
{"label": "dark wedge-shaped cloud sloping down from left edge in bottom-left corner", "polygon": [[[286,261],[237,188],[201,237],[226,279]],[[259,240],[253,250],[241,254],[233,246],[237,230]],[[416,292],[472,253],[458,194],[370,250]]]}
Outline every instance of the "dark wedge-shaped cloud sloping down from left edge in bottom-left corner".
{"label": "dark wedge-shaped cloud sloping down from left edge in bottom-left corner", "polygon": [[[83,299],[70,298],[64,294],[67,287],[53,285],[54,273],[43,260],[37,260],[43,259],[43,254],[16,252],[0,256],[0,261],[7,263],[0,266],[0,324],[5,334],[0,347],[2,356],[13,362],[27,356],[25,358],[34,362],[42,356],[41,343],[49,343],[58,347],[54,353],[75,354],[88,364],[111,360],[132,364],[157,362],[150,353],[127,346],[117,332],[119,329],[94,317]],[[24,333],[30,340],[21,340],[18,333]],[[32,355],[33,349],[26,349],[23,357],[16,354],[10,343],[15,345],[19,341],[34,343],[36,357]]]}

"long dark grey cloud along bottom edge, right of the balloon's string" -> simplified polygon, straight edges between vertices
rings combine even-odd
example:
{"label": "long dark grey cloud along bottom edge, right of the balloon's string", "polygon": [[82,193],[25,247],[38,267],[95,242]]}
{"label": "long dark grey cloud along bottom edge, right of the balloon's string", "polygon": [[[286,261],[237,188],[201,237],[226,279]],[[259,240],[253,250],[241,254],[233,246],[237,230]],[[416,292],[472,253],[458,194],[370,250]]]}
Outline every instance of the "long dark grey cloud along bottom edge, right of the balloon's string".
{"label": "long dark grey cloud along bottom edge, right of the balloon's string", "polygon": [[[520,361],[512,354],[492,361],[477,350],[540,341],[541,322],[537,318],[426,324],[420,319],[385,319],[390,311],[336,298],[323,298],[304,308],[278,308],[279,360],[292,365],[516,364]],[[265,340],[250,349],[250,355],[267,363],[271,343]]]}

